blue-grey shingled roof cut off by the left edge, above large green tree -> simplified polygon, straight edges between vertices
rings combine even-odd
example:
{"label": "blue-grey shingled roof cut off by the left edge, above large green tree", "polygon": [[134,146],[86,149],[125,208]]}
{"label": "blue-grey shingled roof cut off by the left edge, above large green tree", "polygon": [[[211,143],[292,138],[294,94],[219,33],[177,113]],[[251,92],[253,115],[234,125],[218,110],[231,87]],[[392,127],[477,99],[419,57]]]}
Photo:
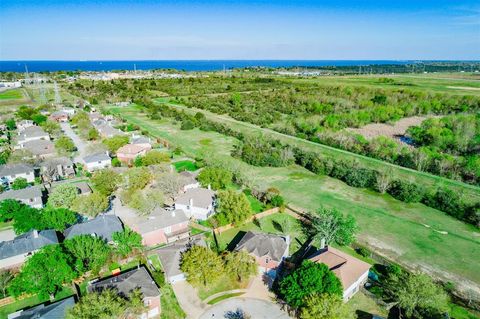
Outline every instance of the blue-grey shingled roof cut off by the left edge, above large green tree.
{"label": "blue-grey shingled roof cut off by the left edge, above large green tree", "polygon": [[44,246],[57,244],[57,233],[53,229],[36,231],[15,237],[13,240],[0,243],[0,259],[23,255]]}

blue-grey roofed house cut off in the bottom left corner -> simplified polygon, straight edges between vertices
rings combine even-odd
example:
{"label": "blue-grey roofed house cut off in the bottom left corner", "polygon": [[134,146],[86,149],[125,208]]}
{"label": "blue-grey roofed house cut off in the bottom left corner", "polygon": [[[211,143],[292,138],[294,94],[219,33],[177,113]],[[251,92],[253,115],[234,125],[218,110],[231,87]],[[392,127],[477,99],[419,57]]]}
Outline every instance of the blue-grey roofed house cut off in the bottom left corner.
{"label": "blue-grey roofed house cut off in the bottom left corner", "polygon": [[19,310],[8,315],[7,319],[61,319],[75,305],[75,298],[68,297],[51,303],[40,304],[30,309]]}

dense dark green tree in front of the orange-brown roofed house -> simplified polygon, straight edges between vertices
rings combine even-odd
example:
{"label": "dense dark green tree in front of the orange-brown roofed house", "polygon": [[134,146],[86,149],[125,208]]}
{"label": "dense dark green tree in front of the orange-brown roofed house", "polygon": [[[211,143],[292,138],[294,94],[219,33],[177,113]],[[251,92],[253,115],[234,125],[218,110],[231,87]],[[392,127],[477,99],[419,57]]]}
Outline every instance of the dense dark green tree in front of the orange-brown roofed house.
{"label": "dense dark green tree in front of the orange-brown roofed house", "polygon": [[342,296],[342,284],[327,265],[305,260],[282,279],[279,292],[291,307],[299,308],[313,293]]}

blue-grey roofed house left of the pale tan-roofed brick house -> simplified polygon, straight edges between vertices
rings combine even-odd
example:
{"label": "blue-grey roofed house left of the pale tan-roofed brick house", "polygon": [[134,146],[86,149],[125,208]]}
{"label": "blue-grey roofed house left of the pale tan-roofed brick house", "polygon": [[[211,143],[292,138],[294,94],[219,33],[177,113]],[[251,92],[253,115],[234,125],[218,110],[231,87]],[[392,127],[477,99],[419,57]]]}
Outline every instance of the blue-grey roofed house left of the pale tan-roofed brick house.
{"label": "blue-grey roofed house left of the pale tan-roofed brick house", "polygon": [[92,235],[112,242],[113,233],[123,231],[123,225],[120,219],[114,215],[99,215],[94,219],[70,226],[63,233],[65,239],[70,239],[80,235]]}

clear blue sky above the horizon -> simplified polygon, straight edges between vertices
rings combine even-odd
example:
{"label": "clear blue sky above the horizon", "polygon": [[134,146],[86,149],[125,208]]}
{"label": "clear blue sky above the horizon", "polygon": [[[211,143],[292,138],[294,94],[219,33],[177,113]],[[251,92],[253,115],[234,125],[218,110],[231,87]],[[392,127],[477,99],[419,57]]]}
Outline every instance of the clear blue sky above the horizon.
{"label": "clear blue sky above the horizon", "polygon": [[480,2],[1,0],[28,59],[480,59]]}

